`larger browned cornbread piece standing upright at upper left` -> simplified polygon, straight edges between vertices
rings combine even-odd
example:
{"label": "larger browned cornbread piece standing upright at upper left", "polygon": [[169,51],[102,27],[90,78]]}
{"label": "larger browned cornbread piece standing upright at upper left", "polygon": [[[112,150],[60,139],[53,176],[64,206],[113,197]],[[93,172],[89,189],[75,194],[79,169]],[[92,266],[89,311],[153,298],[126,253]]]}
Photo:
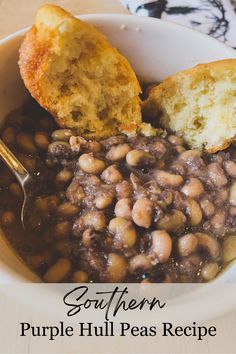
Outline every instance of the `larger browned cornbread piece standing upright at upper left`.
{"label": "larger browned cornbread piece standing upright at upper left", "polygon": [[20,48],[27,89],[61,127],[86,137],[135,134],[141,88],[128,61],[88,23],[42,6]]}

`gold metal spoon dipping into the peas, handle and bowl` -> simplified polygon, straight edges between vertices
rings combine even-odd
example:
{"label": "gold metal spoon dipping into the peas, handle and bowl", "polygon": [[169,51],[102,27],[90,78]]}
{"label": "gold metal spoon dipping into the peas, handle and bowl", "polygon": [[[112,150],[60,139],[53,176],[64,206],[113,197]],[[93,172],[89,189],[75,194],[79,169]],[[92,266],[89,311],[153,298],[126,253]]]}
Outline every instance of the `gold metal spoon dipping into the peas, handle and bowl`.
{"label": "gold metal spoon dipping into the peas, handle and bowl", "polygon": [[23,190],[24,200],[21,208],[21,222],[22,222],[22,226],[25,228],[26,206],[28,205],[28,199],[29,199],[28,192],[29,192],[29,187],[32,186],[34,180],[30,176],[29,172],[25,169],[25,167],[21,164],[21,162],[4,144],[2,139],[0,139],[0,158],[6,163],[6,165],[10,168],[10,170],[14,173]]}

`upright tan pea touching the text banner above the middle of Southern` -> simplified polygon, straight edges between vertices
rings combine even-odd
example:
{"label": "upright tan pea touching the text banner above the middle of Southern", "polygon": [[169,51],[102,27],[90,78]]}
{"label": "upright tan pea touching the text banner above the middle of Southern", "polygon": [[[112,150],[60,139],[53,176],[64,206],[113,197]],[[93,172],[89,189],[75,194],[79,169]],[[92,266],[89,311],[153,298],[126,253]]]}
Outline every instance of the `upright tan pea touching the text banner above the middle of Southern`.
{"label": "upright tan pea touching the text banner above the middle of Southern", "polygon": [[127,263],[123,256],[110,253],[107,258],[107,281],[109,283],[119,283],[125,279],[127,273]]}

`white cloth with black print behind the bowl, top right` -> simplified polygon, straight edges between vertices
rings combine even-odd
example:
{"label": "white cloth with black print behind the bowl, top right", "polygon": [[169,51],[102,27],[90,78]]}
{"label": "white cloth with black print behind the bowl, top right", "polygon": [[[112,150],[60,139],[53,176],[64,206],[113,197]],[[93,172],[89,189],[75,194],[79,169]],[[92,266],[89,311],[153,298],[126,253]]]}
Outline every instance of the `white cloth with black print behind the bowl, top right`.
{"label": "white cloth with black print behind the bowl, top right", "polygon": [[177,22],[236,48],[236,0],[121,0],[132,13]]}

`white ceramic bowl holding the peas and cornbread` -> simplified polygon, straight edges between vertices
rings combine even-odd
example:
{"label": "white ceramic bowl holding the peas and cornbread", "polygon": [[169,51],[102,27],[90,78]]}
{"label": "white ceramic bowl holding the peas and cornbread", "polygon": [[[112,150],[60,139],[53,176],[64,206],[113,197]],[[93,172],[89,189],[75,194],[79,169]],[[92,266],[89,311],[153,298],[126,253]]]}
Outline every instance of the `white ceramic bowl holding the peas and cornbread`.
{"label": "white ceramic bowl holding the peas and cornbread", "polygon": [[[97,26],[128,58],[140,80],[158,82],[197,63],[236,57],[236,52],[221,42],[173,23],[118,14],[81,18]],[[17,65],[18,49],[26,30],[0,41],[0,122],[28,95]],[[38,281],[3,233],[0,236],[0,282]],[[231,267],[220,279],[236,282],[236,269]]]}

